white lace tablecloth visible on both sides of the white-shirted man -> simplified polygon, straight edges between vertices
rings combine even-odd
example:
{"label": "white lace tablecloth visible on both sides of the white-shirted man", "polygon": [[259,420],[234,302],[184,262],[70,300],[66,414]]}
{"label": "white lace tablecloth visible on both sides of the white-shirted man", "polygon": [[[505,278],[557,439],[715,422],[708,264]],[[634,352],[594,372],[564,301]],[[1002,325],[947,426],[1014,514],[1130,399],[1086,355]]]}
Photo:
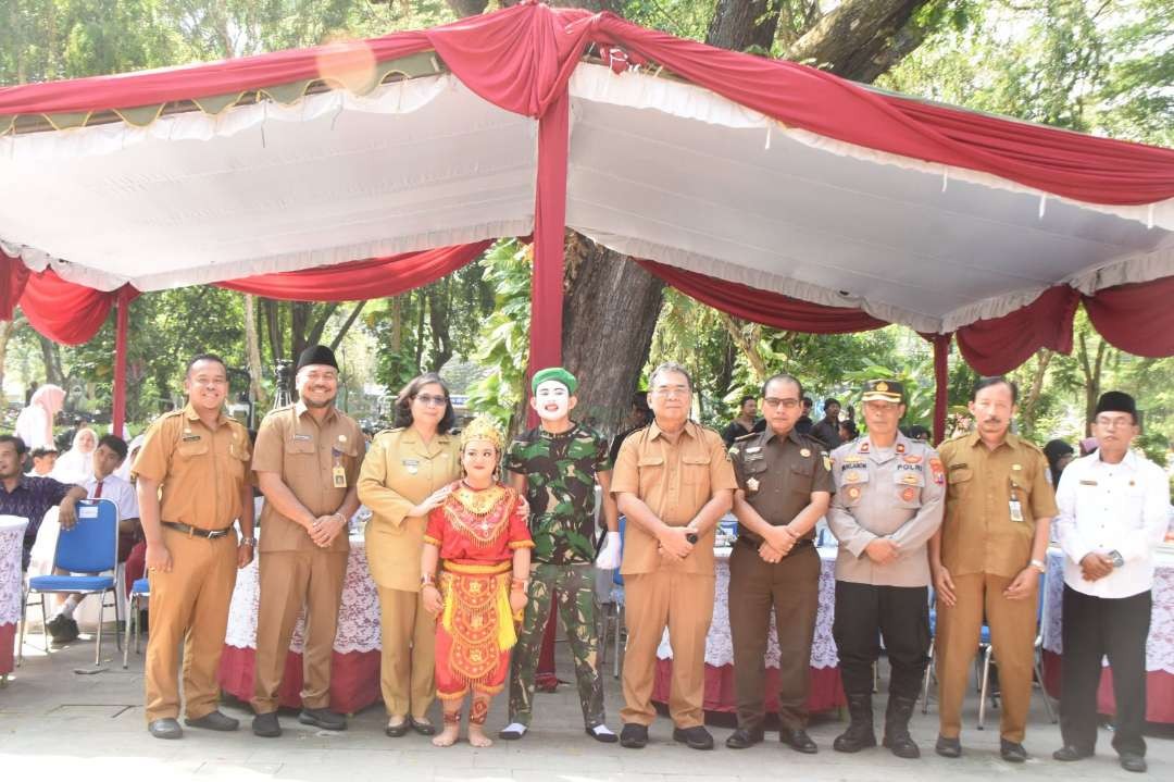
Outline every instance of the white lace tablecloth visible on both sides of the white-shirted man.
{"label": "white lace tablecloth visible on both sides of the white-shirted man", "polygon": [[[1174,555],[1159,553],[1154,573],[1154,609],[1146,640],[1146,670],[1174,674]],[[1064,653],[1064,553],[1047,552],[1047,580],[1044,585],[1044,648]],[[1108,665],[1108,661],[1105,661]]]}

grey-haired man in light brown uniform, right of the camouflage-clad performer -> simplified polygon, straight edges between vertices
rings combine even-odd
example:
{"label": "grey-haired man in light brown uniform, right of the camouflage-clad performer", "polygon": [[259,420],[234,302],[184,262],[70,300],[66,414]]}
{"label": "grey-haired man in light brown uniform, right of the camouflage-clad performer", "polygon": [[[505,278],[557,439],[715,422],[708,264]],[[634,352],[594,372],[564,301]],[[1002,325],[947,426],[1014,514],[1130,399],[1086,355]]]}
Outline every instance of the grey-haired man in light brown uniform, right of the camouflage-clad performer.
{"label": "grey-haired man in light brown uniform, right of the camouflage-clad performer", "polygon": [[717,432],[689,420],[693,383],[680,364],[653,371],[655,420],[620,446],[612,492],[627,515],[623,561],[628,645],[620,743],[648,743],[656,647],[673,645],[673,740],[713,749],[704,728],[706,635],[714,614],[714,528],[737,486]]}

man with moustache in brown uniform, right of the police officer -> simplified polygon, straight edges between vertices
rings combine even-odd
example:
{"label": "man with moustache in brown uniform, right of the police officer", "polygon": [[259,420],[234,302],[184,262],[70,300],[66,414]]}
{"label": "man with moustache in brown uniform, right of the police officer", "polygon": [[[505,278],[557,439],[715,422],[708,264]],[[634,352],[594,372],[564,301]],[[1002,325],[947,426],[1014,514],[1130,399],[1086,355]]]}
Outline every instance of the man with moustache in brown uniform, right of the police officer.
{"label": "man with moustache in brown uniform, right of the police officer", "polygon": [[930,567],[938,596],[936,750],[944,757],[962,755],[962,701],[985,616],[1003,693],[999,753],[1027,760],[1039,575],[1057,508],[1044,452],[1007,431],[1016,397],[1005,377],[981,378],[970,403],[976,431],[940,449],[946,514],[930,540]]}

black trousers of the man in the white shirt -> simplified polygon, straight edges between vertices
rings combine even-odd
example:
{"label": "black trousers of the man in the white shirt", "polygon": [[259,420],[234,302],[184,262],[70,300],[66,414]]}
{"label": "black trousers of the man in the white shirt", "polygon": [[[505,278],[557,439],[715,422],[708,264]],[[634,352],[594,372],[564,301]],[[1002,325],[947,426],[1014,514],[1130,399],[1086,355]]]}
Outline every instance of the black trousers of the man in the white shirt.
{"label": "black trousers of the man in the white shirt", "polygon": [[1146,636],[1153,595],[1093,598],[1064,585],[1064,658],[1060,673],[1060,735],[1064,743],[1097,746],[1097,688],[1108,655],[1116,700],[1113,749],[1146,754]]}

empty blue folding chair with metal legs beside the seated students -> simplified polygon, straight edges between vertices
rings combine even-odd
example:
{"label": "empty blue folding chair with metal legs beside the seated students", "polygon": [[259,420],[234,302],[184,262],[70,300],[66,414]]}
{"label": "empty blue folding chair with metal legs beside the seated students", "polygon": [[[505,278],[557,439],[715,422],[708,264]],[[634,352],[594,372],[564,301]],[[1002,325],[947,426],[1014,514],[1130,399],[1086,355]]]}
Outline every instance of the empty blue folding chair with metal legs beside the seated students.
{"label": "empty blue folding chair with metal legs beside the seated students", "polygon": [[[28,625],[28,599],[33,594],[41,595],[41,621],[45,627],[45,653],[49,654],[48,640],[48,612],[45,606],[47,594],[100,594],[101,607],[97,613],[97,636],[94,650],[94,665],[102,661],[102,614],[108,605],[114,606],[114,619],[119,621],[119,599],[115,593],[117,582],[113,573],[119,564],[119,508],[108,499],[79,500],[77,524],[72,528],[58,534],[58,546],[53,554],[54,569],[63,569],[68,573],[106,573],[112,575],[34,575],[28,580],[28,588],[25,591],[21,622],[20,643],[16,658],[19,666],[25,659],[25,627]],[[106,601],[109,594],[114,599],[113,604]],[[119,646],[122,639],[117,632],[114,634]]]}

